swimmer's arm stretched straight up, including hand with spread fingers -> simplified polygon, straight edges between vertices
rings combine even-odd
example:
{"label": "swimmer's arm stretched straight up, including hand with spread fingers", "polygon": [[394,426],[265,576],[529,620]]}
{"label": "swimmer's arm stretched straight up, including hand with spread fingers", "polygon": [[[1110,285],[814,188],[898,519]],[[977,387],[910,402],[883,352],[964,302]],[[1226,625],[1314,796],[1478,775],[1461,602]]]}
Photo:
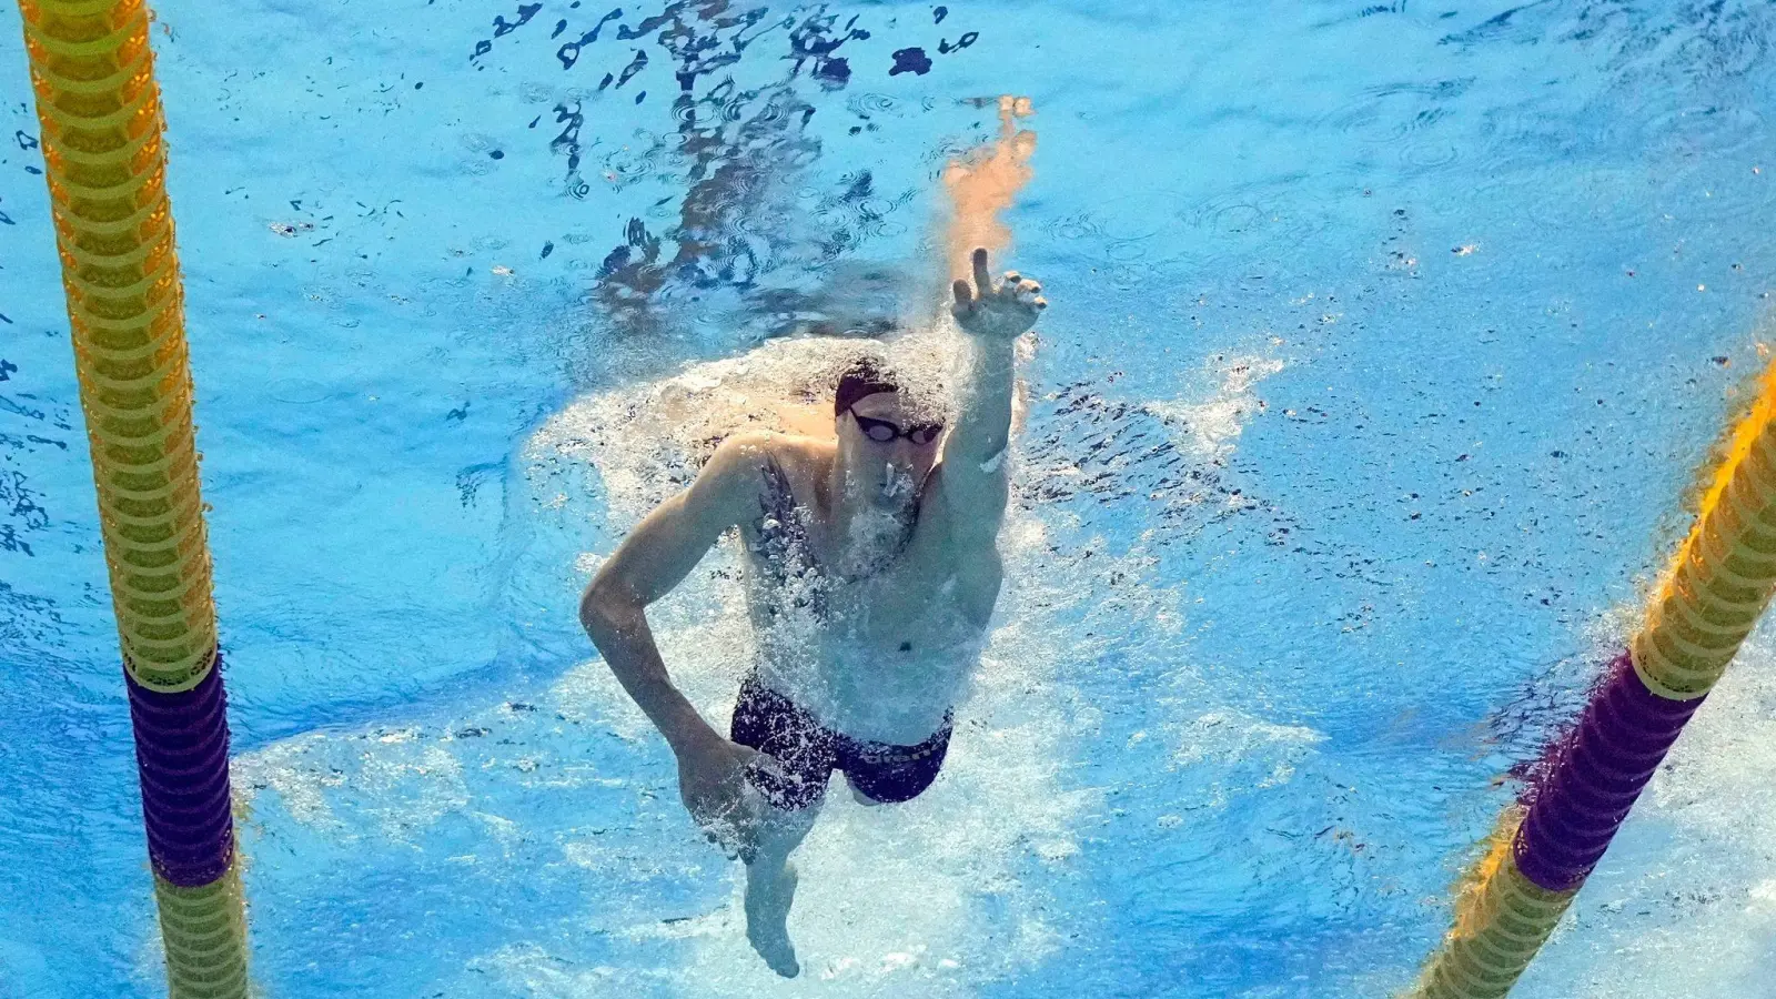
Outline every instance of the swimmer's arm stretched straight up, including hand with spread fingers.
{"label": "swimmer's arm stretched straight up, including hand with spread fingers", "polygon": [[1011,441],[1012,341],[1048,308],[1043,286],[1016,270],[995,284],[987,251],[973,254],[975,286],[957,279],[950,313],[970,340],[955,427],[943,441],[938,494],[952,530],[991,540],[1005,514],[1005,448]]}

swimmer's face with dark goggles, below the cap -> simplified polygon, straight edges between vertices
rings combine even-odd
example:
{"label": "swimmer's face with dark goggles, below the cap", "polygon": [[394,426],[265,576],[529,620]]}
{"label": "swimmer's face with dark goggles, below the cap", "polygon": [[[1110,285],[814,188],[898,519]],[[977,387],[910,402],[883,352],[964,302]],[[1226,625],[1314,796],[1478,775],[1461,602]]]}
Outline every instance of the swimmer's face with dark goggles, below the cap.
{"label": "swimmer's face with dark goggles, below the cap", "polygon": [[838,414],[836,430],[847,487],[888,508],[918,498],[943,441],[943,427],[908,407],[900,393],[860,398]]}

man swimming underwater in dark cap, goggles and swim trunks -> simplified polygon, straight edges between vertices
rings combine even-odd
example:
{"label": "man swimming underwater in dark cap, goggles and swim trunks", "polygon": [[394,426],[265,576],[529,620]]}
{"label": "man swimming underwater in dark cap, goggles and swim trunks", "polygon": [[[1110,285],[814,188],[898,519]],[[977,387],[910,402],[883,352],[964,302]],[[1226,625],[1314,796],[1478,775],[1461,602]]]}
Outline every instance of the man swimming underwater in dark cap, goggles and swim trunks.
{"label": "man swimming underwater in dark cap, goggles and swim trunks", "polygon": [[[950,308],[971,350],[948,432],[884,366],[852,363],[835,389],[836,439],[728,437],[581,599],[591,642],[677,754],[686,809],[746,860],[746,939],[787,978],[801,971],[789,855],[831,771],[863,803],[908,802],[936,780],[998,599],[1012,341],[1048,302],[1016,272],[995,284],[984,249],[971,265]],[[645,608],[730,528],[758,659],[723,738],[673,686]]]}

